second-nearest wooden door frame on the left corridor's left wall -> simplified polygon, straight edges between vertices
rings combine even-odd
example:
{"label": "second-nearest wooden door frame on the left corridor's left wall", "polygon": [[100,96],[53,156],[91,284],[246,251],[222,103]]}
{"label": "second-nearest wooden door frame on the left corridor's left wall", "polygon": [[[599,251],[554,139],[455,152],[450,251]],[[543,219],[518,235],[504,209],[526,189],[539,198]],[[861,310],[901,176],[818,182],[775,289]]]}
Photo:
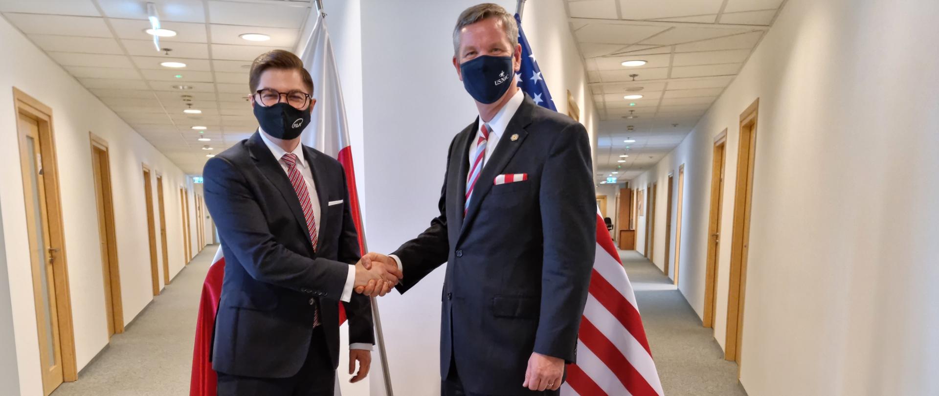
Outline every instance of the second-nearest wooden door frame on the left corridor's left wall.
{"label": "second-nearest wooden door frame on the left corridor's left wall", "polygon": [[[88,132],[88,139],[91,141],[91,155],[98,155],[95,151],[100,150],[104,157],[104,160],[100,162],[101,190],[103,190],[103,195],[101,196],[101,207],[104,209],[104,214],[102,217],[105,221],[104,233],[105,237],[107,238],[108,251],[107,262],[101,263],[101,265],[107,266],[107,281],[110,281],[109,290],[111,292],[111,296],[110,299],[106,299],[105,302],[110,301],[111,306],[106,307],[106,309],[109,309],[112,312],[112,326],[114,328],[115,334],[120,334],[124,332],[124,300],[123,294],[121,293],[122,289],[120,284],[120,262],[118,261],[117,256],[114,190],[112,189],[113,184],[111,182],[111,151],[108,149],[108,142],[102,139],[100,136],[92,132]],[[94,161],[94,159],[92,159],[92,161]],[[99,227],[100,226],[101,224],[99,224]]]}

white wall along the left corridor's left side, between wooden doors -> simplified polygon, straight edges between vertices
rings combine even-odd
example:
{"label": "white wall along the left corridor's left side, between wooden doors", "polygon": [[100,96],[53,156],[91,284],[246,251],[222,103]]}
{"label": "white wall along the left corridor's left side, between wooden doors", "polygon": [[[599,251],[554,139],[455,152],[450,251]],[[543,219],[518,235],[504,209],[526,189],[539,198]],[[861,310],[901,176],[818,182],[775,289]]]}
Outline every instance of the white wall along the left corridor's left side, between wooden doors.
{"label": "white wall along the left corridor's left side, between wooden doors", "polygon": [[[42,390],[12,87],[23,90],[53,109],[75,352],[80,370],[108,343],[88,132],[105,139],[110,146],[125,323],[130,323],[153,298],[141,164],[146,163],[154,175],[164,177],[171,275],[183,267],[178,189],[185,181],[175,164],[3,19],[0,19],[0,38],[0,53],[5,54],[5,61],[0,62],[0,92],[6,93],[0,95],[0,109],[5,109],[0,112],[0,130],[4,131],[0,133],[0,164],[8,171],[0,177],[7,247],[4,252],[8,263],[20,386],[23,395],[36,395]],[[151,183],[153,202],[156,203],[154,177],[151,177]],[[157,254],[161,254],[159,234]],[[158,267],[162,285],[162,265]]]}

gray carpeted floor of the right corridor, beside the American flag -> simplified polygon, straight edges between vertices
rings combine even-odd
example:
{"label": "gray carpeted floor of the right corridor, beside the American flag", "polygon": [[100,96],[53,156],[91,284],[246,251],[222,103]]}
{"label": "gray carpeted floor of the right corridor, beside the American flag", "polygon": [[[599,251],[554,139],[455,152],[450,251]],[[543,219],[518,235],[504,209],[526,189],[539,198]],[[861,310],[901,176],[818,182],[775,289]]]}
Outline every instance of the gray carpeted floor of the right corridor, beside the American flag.
{"label": "gray carpeted floor of the right corridor, beside the American flag", "polygon": [[668,396],[746,396],[736,363],[724,360],[710,328],[662,271],[636,251],[621,251],[636,290],[655,367]]}

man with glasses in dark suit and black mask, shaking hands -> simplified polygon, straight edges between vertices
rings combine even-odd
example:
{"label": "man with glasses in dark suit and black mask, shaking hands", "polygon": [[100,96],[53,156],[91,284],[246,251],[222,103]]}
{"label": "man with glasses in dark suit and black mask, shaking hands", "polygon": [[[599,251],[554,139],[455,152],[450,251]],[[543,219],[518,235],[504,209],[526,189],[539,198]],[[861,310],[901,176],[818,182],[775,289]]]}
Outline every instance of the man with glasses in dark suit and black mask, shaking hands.
{"label": "man with glasses in dark suit and black mask, shaking hands", "polygon": [[203,172],[226,262],[212,353],[218,393],[332,396],[338,302],[349,360],[360,364],[355,382],[368,373],[374,335],[369,297],[352,291],[372,281],[370,296],[383,295],[400,272],[363,266],[342,165],[300,145],[316,104],[300,59],[263,53],[249,84],[259,130]]}

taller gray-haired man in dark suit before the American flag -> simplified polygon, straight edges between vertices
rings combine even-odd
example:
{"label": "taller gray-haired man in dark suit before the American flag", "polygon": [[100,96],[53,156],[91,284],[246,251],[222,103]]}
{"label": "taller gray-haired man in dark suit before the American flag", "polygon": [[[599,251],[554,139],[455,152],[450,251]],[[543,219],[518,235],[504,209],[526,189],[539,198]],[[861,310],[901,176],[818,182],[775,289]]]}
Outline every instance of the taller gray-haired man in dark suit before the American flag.
{"label": "taller gray-haired man in dark suit before the American flag", "polygon": [[515,19],[468,8],[454,67],[479,118],[447,155],[439,217],[376,261],[401,267],[405,293],[445,262],[440,328],[444,395],[558,394],[574,362],[596,250],[590,141],[512,79]]}

